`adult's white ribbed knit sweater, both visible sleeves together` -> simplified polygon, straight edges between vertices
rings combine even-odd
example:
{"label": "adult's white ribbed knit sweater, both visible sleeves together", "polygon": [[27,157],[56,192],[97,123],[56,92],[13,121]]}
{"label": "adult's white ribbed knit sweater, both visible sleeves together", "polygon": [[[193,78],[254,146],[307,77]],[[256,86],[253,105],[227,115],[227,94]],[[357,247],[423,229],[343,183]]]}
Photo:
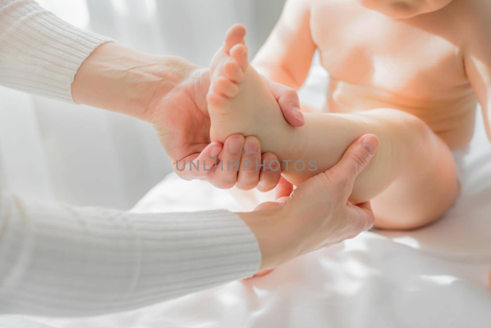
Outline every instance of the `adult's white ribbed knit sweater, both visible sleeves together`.
{"label": "adult's white ribbed knit sweater, both visible sleeves together", "polygon": [[[73,102],[78,68],[106,41],[32,0],[0,0],[0,84]],[[0,313],[132,309],[248,277],[260,262],[253,233],[228,211],[134,214],[0,189]]]}

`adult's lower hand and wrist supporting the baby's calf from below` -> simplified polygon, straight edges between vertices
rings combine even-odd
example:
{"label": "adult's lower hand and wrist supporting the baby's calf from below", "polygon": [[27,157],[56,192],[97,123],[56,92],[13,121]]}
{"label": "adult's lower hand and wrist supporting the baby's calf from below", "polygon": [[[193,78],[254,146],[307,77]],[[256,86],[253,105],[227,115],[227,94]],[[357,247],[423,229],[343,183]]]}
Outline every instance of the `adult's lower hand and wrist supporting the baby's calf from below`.
{"label": "adult's lower hand and wrist supporting the baby's calf from below", "polygon": [[355,178],[368,165],[378,146],[375,135],[365,135],[346,150],[336,166],[308,179],[289,197],[278,203],[261,204],[254,212],[239,214],[259,242],[260,270],[354,238],[373,226],[370,204],[352,205],[348,198]]}

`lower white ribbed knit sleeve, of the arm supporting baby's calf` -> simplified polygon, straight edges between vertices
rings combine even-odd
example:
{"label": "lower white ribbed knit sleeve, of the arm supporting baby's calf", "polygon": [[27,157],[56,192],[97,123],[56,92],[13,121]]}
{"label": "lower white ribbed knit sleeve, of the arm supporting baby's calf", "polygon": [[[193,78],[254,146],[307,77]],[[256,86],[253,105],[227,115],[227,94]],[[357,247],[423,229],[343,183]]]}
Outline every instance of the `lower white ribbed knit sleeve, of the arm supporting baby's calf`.
{"label": "lower white ribbed knit sleeve, of the arm supporting baby's calf", "polygon": [[134,309],[246,278],[254,234],[224,210],[136,214],[0,197],[0,313]]}

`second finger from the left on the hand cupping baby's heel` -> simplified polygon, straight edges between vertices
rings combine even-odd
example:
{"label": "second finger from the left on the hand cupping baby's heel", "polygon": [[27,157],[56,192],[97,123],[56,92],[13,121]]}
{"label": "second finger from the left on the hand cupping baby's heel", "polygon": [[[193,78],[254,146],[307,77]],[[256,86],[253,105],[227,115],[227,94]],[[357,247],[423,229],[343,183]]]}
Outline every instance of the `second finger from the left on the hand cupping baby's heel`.
{"label": "second finger from the left on the hand cupping baby's heel", "polygon": [[229,189],[235,185],[244,142],[245,138],[242,134],[231,135],[225,140],[220,162],[215,169],[213,179],[209,179],[208,181],[221,189]]}

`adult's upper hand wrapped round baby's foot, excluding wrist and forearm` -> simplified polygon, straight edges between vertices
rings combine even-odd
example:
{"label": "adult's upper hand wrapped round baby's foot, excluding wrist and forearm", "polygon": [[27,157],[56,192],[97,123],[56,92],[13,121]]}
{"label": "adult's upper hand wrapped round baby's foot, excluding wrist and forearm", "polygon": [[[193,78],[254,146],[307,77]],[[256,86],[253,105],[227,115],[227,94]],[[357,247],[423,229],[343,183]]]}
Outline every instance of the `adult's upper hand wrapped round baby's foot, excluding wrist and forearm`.
{"label": "adult's upper hand wrapped round baby's foot, excluding wrist and forearm", "polygon": [[[212,167],[217,157],[224,163],[242,162],[247,159],[252,163],[263,163],[269,168],[269,162],[278,161],[273,153],[261,153],[261,146],[256,137],[244,138],[232,135],[224,145],[218,142],[210,144],[210,117],[206,103],[206,94],[210,86],[208,68],[188,64],[184,75],[170,92],[157,94],[152,100],[149,113],[159,139],[173,158],[172,167],[183,179],[208,180],[218,188],[238,188],[249,190],[258,187],[261,191],[272,190],[278,183],[280,171],[219,169]],[[290,88],[276,84],[265,78],[273,96],[280,104],[283,116],[294,126],[304,124],[300,112],[297,93]],[[245,154],[247,149],[255,149],[253,154]],[[191,167],[191,161],[194,166]],[[199,163],[199,170],[196,165]],[[208,171],[211,170],[211,171]]]}

